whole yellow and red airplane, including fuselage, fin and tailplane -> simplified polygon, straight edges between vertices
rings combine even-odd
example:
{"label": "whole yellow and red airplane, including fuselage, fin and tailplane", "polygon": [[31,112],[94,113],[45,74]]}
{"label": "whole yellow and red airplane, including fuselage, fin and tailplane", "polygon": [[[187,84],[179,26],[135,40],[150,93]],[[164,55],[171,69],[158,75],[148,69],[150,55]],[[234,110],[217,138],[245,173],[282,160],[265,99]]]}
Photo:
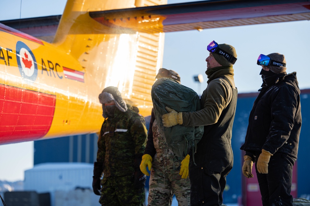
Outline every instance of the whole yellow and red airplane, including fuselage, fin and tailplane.
{"label": "whole yellow and red airplane, including fuselage, fin and tailplane", "polygon": [[117,86],[143,116],[164,32],[310,19],[307,0],[68,0],[52,43],[0,24],[0,144],[94,133]]}

